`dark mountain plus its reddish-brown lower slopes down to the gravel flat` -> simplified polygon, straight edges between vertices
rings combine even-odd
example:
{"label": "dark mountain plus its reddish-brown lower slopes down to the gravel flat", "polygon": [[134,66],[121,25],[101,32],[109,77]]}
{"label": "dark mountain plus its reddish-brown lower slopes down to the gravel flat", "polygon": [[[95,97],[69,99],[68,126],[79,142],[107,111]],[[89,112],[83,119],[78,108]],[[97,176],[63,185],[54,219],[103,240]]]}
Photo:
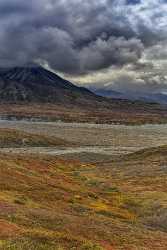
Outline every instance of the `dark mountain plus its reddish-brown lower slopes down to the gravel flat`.
{"label": "dark mountain plus its reddish-brown lower slopes down to the gravel flat", "polygon": [[[108,94],[111,98],[107,98]],[[0,68],[0,118],[166,123],[167,106],[145,97],[131,99],[116,91],[93,93],[39,65],[26,65]]]}

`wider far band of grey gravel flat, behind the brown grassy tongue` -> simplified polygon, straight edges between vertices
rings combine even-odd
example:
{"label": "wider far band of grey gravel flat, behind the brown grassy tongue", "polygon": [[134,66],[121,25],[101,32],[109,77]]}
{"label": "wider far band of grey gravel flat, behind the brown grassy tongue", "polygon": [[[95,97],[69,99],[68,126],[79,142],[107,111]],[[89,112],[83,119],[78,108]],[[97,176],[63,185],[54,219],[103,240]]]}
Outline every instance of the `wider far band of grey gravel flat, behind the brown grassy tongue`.
{"label": "wider far band of grey gravel flat, behind the brown grassy tongue", "polygon": [[167,125],[105,125],[63,122],[0,121],[0,128],[55,136],[78,146],[155,147],[167,144]]}

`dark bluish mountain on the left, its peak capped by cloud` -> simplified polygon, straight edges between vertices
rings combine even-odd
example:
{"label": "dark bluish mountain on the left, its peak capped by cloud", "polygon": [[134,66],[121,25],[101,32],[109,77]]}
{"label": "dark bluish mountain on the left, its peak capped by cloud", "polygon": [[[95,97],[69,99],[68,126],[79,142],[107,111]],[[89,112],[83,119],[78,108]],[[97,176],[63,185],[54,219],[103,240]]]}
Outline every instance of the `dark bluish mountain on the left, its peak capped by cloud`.
{"label": "dark bluish mountain on the left, its peak capped by cloud", "polygon": [[87,103],[98,97],[41,66],[0,69],[0,102]]}

